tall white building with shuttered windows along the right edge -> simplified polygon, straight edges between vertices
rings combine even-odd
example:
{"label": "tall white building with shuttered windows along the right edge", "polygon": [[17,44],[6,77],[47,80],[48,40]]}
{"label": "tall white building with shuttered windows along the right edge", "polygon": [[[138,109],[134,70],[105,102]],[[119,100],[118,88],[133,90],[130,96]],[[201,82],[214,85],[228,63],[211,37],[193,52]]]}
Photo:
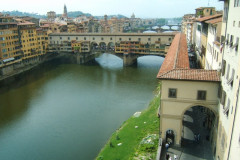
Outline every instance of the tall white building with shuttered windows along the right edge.
{"label": "tall white building with shuttered windows along the right edge", "polygon": [[223,37],[221,38],[224,46],[216,158],[219,160],[237,160],[240,159],[240,110],[238,101],[240,85],[240,0],[220,1],[224,1]]}

